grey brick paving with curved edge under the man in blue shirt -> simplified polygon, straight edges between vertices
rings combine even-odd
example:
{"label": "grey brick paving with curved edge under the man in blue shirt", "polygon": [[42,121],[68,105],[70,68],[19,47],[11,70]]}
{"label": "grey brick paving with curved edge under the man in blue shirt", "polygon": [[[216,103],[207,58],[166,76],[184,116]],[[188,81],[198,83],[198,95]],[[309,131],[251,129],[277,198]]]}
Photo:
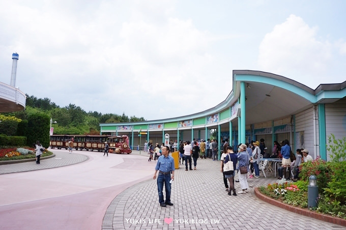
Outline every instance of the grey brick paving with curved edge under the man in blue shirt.
{"label": "grey brick paving with curved edge under the man in blue shirt", "polygon": [[[345,229],[277,208],[255,197],[253,187],[275,181],[274,177],[264,178],[261,173],[260,179],[248,179],[251,192],[229,196],[220,161],[198,159],[197,170],[185,171],[183,165],[176,169],[171,190],[174,206],[161,208],[156,180],[147,180],[114,198],[102,229]],[[239,183],[235,184],[240,191]]]}

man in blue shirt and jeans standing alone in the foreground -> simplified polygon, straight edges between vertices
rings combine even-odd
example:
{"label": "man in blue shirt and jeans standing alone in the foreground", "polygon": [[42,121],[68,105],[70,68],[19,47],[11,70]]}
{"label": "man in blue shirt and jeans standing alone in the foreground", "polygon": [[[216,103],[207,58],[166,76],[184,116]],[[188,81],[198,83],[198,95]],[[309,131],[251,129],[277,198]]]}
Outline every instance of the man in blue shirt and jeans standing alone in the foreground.
{"label": "man in blue shirt and jeans standing alone in the foreground", "polygon": [[[157,171],[159,171],[159,176],[157,177],[157,190],[159,192],[159,203],[161,207],[166,207],[167,205],[172,206],[170,202],[170,180],[174,180],[174,159],[169,156],[169,147],[164,146],[161,149],[162,155],[159,157],[153,179],[156,179]],[[171,174],[171,175],[170,175]],[[166,190],[166,201],[163,199],[163,183]]]}

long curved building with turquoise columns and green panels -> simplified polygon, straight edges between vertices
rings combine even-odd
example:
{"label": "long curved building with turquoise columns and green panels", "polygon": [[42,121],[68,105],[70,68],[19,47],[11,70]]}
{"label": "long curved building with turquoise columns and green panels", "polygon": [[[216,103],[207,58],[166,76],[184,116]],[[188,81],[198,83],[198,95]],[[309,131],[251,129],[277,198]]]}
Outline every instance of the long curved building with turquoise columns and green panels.
{"label": "long curved building with turquoise columns and green panels", "polygon": [[128,135],[133,147],[139,145],[140,130],[147,133],[141,142],[154,143],[164,142],[167,133],[172,140],[208,139],[216,130],[219,147],[225,138],[234,147],[264,138],[271,152],[274,140],[288,139],[293,150],[308,149],[313,158],[327,160],[328,136],[346,136],[346,81],[313,90],[276,74],[234,70],[232,91],[213,108],[177,118],[100,126],[101,134]]}

